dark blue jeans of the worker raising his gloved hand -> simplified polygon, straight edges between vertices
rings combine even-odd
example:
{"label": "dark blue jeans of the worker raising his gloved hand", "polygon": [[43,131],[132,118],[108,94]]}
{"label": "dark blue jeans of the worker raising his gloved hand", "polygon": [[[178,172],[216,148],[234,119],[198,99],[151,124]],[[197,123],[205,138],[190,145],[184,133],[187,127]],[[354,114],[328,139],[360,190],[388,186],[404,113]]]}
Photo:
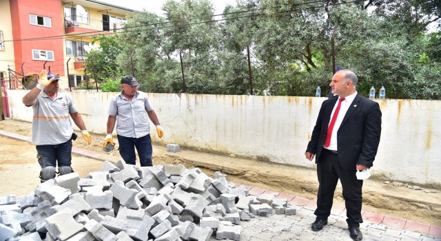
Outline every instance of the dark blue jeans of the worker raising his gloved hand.
{"label": "dark blue jeans of the worker raising his gloved hand", "polygon": [[69,166],[72,164],[72,140],[58,145],[37,145],[37,159],[40,167]]}

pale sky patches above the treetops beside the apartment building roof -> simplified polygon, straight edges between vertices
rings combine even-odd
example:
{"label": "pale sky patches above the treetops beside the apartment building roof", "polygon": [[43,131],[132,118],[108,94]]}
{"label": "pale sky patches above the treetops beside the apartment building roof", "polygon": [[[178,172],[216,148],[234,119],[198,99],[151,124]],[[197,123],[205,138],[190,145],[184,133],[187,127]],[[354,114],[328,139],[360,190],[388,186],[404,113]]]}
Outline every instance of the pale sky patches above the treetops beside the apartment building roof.
{"label": "pale sky patches above the treetops beside the apartment building roof", "polygon": [[[130,8],[133,10],[147,10],[147,12],[155,12],[156,14],[162,15],[163,12],[161,7],[167,0],[100,0],[105,3],[110,3],[116,6],[121,6],[124,8]],[[215,14],[222,13],[224,7],[229,5],[236,5],[236,0],[212,0],[215,8]]]}

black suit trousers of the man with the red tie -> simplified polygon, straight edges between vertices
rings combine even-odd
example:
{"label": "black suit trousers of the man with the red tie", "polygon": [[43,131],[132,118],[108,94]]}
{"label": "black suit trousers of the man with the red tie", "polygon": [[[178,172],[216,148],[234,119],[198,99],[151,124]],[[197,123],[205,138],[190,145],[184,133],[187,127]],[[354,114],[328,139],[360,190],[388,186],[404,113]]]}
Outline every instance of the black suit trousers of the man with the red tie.
{"label": "black suit trousers of the man with the red tie", "polygon": [[317,219],[326,219],[331,215],[334,191],[340,179],[345,198],[347,224],[349,227],[360,227],[360,223],[363,222],[361,217],[363,181],[356,177],[356,166],[350,169],[340,167],[337,154],[323,148],[320,160],[317,162],[317,177],[317,209],[314,212]]}

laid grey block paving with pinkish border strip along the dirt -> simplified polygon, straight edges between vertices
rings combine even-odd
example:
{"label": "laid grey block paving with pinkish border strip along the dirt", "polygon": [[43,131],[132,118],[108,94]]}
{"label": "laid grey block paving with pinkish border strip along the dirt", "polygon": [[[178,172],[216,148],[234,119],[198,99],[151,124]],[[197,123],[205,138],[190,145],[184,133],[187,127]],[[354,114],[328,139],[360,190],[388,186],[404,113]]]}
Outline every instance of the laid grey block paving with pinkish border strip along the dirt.
{"label": "laid grey block paving with pinkish border strip along the dirt", "polygon": [[[28,136],[21,136],[0,130],[0,135],[30,141]],[[97,159],[102,154],[85,149],[74,148],[74,154]],[[285,193],[247,186],[250,195],[273,195],[275,198],[287,198],[291,205],[297,207],[295,215],[272,214],[266,217],[256,216],[249,221],[240,222],[242,232],[240,240],[351,240],[347,230],[346,211],[341,205],[334,205],[328,224],[321,231],[312,231],[310,226],[314,222],[315,200]],[[380,213],[364,211],[360,230],[363,240],[441,240],[441,227],[422,224],[411,220],[404,220]],[[210,240],[216,240],[215,237]]]}

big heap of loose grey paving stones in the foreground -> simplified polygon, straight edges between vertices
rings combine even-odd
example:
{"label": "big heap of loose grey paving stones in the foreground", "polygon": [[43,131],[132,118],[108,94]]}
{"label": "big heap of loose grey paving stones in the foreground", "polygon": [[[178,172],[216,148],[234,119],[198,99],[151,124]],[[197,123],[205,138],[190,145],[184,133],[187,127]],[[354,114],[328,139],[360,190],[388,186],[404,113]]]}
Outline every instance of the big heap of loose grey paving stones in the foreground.
{"label": "big heap of loose grey paving stones in the foreground", "polygon": [[273,213],[296,209],[284,198],[249,196],[220,172],[106,161],[85,178],[74,172],[28,196],[0,197],[0,241],[240,240],[241,221]]}

